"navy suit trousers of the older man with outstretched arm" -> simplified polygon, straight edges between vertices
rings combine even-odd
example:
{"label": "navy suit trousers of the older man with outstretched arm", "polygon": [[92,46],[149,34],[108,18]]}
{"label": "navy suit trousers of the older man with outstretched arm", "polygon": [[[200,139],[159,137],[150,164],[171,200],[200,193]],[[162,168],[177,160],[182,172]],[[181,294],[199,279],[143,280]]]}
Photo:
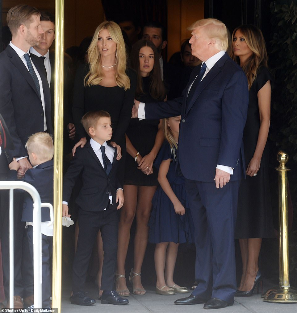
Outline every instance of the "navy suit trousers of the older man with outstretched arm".
{"label": "navy suit trousers of the older man with outstretched arm", "polygon": [[239,182],[216,188],[215,182],[186,179],[186,191],[195,227],[197,288],[206,301],[219,298],[233,304],[236,291],[234,228]]}

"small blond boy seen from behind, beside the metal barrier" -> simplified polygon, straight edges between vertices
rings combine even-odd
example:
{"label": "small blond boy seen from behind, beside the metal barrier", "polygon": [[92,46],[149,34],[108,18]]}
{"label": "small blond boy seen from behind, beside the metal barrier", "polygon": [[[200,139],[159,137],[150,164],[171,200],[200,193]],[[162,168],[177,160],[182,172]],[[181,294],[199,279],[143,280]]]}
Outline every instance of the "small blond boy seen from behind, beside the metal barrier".
{"label": "small blond boy seen from behind, beside the metal barrier", "polygon": [[[29,168],[21,179],[34,186],[39,192],[41,202],[53,204],[53,181],[54,181],[54,155],[53,139],[48,133],[38,132],[30,136],[25,145],[30,163],[33,168]],[[8,180],[17,180],[17,171],[20,164],[13,158],[8,167]],[[29,253],[32,264],[24,264],[29,271],[33,265],[33,201],[29,193],[22,192],[23,214],[22,222],[26,222],[27,239],[29,243]],[[50,307],[51,296],[51,275],[49,270],[50,257],[53,250],[53,221],[50,219],[49,208],[41,209],[41,233],[42,233],[42,307]],[[33,282],[33,271],[32,282]],[[32,299],[33,302],[33,299]]]}

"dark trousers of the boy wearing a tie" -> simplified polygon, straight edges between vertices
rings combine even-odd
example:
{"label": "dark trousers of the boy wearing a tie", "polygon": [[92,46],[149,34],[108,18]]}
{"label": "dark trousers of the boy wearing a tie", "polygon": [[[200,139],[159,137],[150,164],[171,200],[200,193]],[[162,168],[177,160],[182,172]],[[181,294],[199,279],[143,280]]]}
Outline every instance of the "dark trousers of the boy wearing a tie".
{"label": "dark trousers of the boy wearing a tie", "polygon": [[101,290],[114,290],[114,274],[117,266],[117,210],[107,209],[90,212],[79,209],[78,225],[79,233],[73,261],[72,291],[84,291],[88,264],[99,230],[101,231],[104,251]]}

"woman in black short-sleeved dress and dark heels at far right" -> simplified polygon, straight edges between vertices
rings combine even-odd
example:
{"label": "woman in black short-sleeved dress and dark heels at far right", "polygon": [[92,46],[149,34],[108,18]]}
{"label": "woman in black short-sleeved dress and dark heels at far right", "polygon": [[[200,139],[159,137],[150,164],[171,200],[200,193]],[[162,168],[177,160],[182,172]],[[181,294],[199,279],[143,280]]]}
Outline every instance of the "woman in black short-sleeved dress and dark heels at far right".
{"label": "woman in black short-sleeved dress and dark heels at far right", "polygon": [[242,179],[239,188],[235,228],[241,249],[242,277],[235,296],[251,296],[262,283],[258,266],[262,238],[274,236],[267,146],[271,75],[260,29],[253,25],[236,28],[231,57],[242,67],[249,85],[248,116],[243,132],[246,179]]}

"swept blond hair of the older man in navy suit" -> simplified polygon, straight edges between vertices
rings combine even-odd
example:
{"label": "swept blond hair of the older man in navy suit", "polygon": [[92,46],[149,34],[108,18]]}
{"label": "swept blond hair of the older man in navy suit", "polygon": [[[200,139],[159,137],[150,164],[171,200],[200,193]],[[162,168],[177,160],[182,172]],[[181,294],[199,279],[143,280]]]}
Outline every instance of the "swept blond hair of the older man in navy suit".
{"label": "swept blond hair of the older man in navy suit", "polygon": [[193,23],[188,29],[194,30],[197,27],[203,27],[206,35],[215,41],[216,49],[228,50],[228,33],[223,22],[215,18],[204,18]]}

